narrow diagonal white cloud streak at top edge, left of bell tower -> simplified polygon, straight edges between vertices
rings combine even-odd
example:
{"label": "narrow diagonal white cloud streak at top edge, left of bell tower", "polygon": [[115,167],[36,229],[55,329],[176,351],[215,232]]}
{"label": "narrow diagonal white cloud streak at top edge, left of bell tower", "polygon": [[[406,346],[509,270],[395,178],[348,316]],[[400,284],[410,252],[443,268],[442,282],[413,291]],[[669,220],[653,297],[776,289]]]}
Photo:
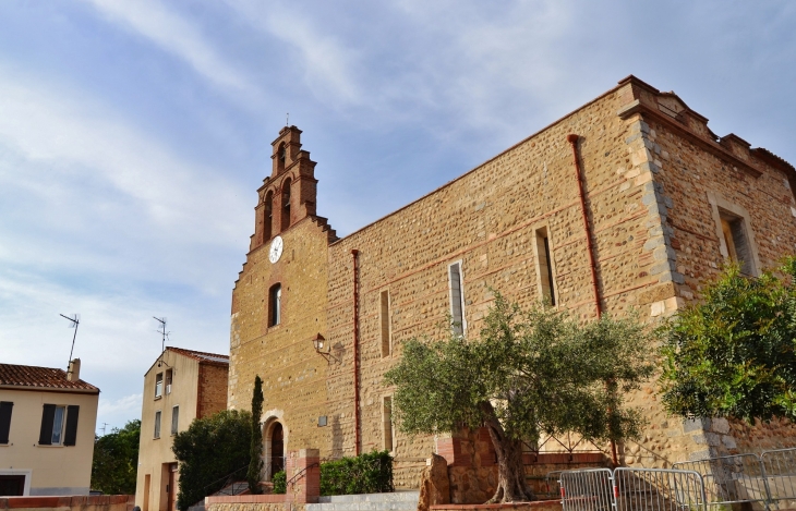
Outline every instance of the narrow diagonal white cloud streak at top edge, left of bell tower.
{"label": "narrow diagonal white cloud streak at top edge, left of bell tower", "polygon": [[188,62],[206,80],[233,94],[257,96],[249,80],[231,66],[196,28],[164,2],[153,0],[88,0],[109,20],[135,31]]}

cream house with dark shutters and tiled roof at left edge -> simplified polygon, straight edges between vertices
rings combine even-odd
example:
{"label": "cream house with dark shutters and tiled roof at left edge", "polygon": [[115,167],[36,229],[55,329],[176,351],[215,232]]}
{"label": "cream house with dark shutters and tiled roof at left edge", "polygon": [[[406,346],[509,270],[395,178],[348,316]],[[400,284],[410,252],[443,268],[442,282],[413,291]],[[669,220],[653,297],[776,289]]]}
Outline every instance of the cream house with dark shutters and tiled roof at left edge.
{"label": "cream house with dark shutters and tiled roof at left edge", "polygon": [[80,364],[0,364],[0,496],[88,495],[99,389]]}

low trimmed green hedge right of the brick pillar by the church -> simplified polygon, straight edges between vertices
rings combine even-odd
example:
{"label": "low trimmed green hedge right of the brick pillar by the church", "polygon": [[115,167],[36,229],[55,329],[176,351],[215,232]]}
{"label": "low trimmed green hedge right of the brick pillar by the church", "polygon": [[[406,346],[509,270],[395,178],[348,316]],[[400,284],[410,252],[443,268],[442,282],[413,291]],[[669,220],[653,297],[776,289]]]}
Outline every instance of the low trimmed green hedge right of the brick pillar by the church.
{"label": "low trimmed green hedge right of the brick pillar by the church", "polygon": [[389,451],[373,451],[321,463],[321,495],[382,494],[393,490],[393,457]]}

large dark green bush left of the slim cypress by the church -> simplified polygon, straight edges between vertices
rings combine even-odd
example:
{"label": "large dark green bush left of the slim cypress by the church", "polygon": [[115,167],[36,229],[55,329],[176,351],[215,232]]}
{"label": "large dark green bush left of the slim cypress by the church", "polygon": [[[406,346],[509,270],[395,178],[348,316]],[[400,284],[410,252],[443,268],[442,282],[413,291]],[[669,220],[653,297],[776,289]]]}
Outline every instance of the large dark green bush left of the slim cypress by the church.
{"label": "large dark green bush left of the slim cypress by the church", "polygon": [[171,450],[180,462],[180,492],[177,507],[185,511],[207,495],[221,489],[226,476],[249,466],[252,414],[225,410],[196,418],[178,433]]}

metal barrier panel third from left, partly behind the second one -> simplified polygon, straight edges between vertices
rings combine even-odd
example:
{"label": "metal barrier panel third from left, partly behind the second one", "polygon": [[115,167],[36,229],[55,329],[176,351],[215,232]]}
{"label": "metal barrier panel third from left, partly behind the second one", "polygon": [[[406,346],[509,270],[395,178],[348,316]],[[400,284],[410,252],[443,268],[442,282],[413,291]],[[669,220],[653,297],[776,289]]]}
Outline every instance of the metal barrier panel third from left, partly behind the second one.
{"label": "metal barrier panel third from left, partly behind the second one", "polygon": [[672,466],[695,471],[702,476],[709,506],[760,502],[767,510],[770,509],[771,491],[765,469],[757,454],[684,461]]}

